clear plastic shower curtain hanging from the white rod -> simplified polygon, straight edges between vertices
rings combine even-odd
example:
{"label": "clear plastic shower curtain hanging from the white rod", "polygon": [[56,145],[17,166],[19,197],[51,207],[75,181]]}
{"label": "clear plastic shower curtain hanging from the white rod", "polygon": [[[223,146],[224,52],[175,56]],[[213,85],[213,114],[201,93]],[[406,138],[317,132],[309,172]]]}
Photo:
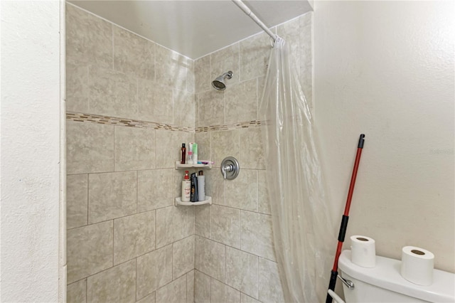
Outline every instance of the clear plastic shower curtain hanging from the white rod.
{"label": "clear plastic shower curtain hanging from the white rod", "polygon": [[274,248],[286,302],[323,302],[336,245],[311,112],[289,62],[272,48],[260,105]]}

